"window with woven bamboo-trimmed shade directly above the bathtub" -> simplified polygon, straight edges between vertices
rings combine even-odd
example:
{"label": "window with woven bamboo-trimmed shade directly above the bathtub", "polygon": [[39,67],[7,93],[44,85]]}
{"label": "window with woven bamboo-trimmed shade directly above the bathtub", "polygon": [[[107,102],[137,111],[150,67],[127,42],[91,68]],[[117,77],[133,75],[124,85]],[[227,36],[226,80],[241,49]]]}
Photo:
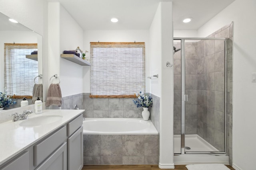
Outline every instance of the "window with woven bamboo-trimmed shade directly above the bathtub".
{"label": "window with woven bamboo-trimmed shade directly above the bathtub", "polygon": [[145,88],[145,43],[91,43],[91,97],[134,97]]}

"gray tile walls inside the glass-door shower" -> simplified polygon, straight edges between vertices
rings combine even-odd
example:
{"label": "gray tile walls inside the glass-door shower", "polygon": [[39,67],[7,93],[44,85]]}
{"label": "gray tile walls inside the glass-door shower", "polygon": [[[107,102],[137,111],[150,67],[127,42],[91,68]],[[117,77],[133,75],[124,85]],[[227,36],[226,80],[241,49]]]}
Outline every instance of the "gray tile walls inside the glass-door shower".
{"label": "gray tile walls inside the glass-door shower", "polygon": [[[224,103],[232,108],[232,24],[209,37],[230,37],[227,66],[227,100],[224,91],[224,41],[205,40],[185,43],[186,53],[186,134],[198,134],[218,150],[224,151]],[[180,43],[174,43],[180,48]],[[174,134],[180,134],[181,115],[180,51],[174,55]],[[228,139],[232,137],[232,109],[227,108]],[[227,153],[232,152],[228,143]]]}

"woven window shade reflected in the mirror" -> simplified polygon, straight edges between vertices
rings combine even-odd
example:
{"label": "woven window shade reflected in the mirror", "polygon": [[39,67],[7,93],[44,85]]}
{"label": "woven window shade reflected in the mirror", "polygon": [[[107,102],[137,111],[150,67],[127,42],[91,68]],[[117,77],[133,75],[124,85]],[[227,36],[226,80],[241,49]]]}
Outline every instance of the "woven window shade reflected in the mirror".
{"label": "woven window shade reflected in the mirror", "polygon": [[38,61],[26,59],[37,44],[4,44],[4,90],[7,95],[32,96]]}

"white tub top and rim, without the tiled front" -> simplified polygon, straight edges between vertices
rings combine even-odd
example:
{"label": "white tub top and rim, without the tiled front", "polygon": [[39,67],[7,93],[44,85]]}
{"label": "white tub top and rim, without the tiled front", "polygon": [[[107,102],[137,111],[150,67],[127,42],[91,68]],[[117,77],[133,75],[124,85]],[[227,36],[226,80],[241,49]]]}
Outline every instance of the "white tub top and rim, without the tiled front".
{"label": "white tub top and rim, without the tiled front", "polygon": [[85,118],[87,135],[158,135],[153,123],[142,118]]}

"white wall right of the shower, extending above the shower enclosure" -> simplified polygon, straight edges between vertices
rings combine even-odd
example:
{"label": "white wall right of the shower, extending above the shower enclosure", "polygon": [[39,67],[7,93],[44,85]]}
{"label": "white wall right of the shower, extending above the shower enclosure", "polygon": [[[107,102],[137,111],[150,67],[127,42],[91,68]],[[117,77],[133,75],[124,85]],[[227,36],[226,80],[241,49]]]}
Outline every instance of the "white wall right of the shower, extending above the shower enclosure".
{"label": "white wall right of the shower, extending above the shower enclosure", "polygon": [[233,167],[237,170],[255,169],[256,83],[256,1],[236,0],[212,20],[198,29],[205,37],[234,21],[233,37]]}

